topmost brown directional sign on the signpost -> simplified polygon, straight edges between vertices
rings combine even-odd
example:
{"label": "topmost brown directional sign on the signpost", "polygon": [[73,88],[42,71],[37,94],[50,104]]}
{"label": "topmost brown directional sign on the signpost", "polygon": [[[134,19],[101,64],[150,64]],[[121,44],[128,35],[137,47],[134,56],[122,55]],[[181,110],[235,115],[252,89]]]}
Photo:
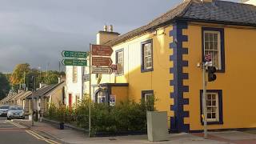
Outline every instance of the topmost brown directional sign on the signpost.
{"label": "topmost brown directional sign on the signpost", "polygon": [[92,55],[111,56],[113,50],[111,46],[92,45]]}

